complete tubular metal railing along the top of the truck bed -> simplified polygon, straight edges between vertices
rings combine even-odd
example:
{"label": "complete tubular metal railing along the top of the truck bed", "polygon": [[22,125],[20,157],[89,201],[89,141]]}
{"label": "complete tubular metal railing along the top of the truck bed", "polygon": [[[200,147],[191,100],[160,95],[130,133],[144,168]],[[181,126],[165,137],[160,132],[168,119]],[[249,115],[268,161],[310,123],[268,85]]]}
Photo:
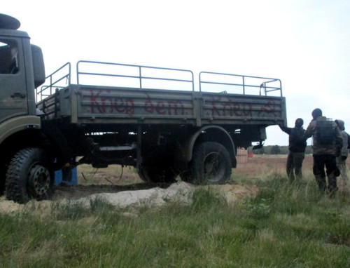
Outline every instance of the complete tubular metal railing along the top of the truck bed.
{"label": "complete tubular metal railing along the top of the truck bed", "polygon": [[[94,86],[195,91],[193,72],[190,70],[112,62],[80,60],[76,64],[76,81],[77,84]],[[71,63],[67,62],[47,76],[46,82],[44,86],[36,89],[37,101],[52,95],[57,89],[69,86]],[[218,72],[200,72],[197,91],[243,95],[276,93],[282,96],[281,80],[279,79]]]}

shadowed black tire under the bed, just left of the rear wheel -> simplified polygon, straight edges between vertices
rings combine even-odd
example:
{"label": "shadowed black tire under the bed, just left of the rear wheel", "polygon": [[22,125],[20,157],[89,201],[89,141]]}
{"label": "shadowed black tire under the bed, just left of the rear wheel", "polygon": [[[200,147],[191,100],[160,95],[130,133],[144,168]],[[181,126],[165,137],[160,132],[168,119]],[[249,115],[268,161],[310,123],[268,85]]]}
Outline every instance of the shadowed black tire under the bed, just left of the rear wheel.
{"label": "shadowed black tire under the bed, just left of the rear wheel", "polygon": [[144,182],[175,182],[178,175],[170,166],[142,166],[137,173]]}

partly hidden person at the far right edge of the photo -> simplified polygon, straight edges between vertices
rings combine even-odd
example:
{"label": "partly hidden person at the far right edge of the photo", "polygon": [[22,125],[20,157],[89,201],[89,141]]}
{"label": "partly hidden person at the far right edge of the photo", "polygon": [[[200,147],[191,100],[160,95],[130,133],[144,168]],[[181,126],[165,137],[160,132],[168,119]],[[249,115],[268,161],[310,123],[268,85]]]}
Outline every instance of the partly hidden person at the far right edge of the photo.
{"label": "partly hidden person at the far right edge of the photo", "polygon": [[340,130],[340,133],[342,134],[343,139],[342,149],[340,150],[340,153],[337,156],[337,167],[340,171],[339,189],[341,191],[347,192],[349,190],[347,189],[349,179],[346,174],[346,159],[348,157],[349,134],[345,132],[344,121],[338,119],[335,120],[335,123],[337,123],[337,126]]}

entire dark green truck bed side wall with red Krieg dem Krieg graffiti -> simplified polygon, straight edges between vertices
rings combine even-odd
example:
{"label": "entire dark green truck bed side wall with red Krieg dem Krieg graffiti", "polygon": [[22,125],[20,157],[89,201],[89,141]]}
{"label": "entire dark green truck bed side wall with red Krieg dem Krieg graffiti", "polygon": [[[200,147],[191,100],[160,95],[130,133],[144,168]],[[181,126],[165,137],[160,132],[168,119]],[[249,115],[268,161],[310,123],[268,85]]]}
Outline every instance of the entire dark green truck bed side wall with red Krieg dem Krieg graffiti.
{"label": "entire dark green truck bed side wall with red Krieg dem Krieg graffiti", "polygon": [[69,116],[71,123],[269,126],[286,120],[282,97],[84,85],[71,85],[57,94],[38,108],[48,119]]}

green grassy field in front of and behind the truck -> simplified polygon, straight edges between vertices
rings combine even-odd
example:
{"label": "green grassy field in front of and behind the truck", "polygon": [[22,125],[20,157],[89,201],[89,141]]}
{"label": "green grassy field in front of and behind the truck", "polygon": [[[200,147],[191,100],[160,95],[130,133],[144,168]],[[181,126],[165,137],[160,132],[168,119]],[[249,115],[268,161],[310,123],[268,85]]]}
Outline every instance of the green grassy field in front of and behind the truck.
{"label": "green grassy field in front of and behind the truck", "polygon": [[[236,206],[199,189],[191,205],[139,208],[137,217],[101,200],[1,213],[0,267],[350,267],[349,195],[319,193],[310,157],[290,185],[285,162],[255,158],[233,170],[232,180],[260,189]],[[137,180],[132,170],[83,173],[86,184]]]}

